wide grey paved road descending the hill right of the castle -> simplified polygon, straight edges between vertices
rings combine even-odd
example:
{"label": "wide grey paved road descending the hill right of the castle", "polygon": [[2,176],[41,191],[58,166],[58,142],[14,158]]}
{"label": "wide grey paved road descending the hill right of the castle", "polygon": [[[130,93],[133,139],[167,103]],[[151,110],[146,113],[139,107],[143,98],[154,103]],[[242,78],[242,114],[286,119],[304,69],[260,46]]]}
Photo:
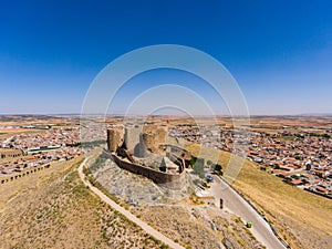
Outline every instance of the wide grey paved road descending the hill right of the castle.
{"label": "wide grey paved road descending the hill right of the castle", "polygon": [[211,193],[216,197],[216,205],[219,199],[224,199],[224,208],[240,217],[245,222],[251,221],[252,235],[268,249],[286,249],[280,240],[272,232],[269,224],[232,188],[230,188],[220,177],[214,176]]}

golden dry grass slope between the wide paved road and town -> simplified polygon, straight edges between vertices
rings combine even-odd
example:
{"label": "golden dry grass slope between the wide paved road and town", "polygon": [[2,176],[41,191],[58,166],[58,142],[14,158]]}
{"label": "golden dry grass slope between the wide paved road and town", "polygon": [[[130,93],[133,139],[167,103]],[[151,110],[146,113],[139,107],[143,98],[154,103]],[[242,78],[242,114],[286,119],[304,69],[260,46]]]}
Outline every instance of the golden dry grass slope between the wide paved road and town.
{"label": "golden dry grass slope between the wide paved road and town", "polygon": [[[194,155],[207,159],[216,155],[225,168],[230,154],[197,144],[186,147]],[[332,245],[332,201],[261,172],[255,163],[246,160],[232,187],[246,196],[277,227],[292,248],[325,248]]]}

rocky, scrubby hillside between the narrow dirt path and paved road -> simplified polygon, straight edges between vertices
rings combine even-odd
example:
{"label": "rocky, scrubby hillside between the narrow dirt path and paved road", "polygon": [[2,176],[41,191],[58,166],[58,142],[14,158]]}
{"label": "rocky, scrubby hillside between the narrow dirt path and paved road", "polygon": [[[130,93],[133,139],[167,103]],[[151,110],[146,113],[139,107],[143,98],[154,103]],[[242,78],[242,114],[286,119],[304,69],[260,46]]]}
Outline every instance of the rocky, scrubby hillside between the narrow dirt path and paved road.
{"label": "rocky, scrubby hillside between the narrow dirt path and paved road", "polygon": [[185,190],[174,193],[121,169],[111,159],[93,167],[93,173],[105,189],[129,205],[132,212],[187,248],[261,248],[237,217],[194,204],[189,179]]}

